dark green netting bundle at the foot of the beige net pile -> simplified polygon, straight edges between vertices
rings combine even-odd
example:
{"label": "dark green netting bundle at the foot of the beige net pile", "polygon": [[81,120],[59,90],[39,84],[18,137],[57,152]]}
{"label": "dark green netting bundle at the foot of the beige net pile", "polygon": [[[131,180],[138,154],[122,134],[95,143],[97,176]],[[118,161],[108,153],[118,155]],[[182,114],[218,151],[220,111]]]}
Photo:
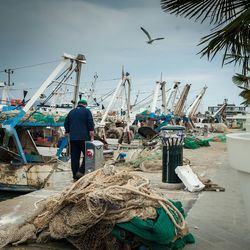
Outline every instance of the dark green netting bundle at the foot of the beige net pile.
{"label": "dark green netting bundle at the foot of the beige net pile", "polygon": [[[185,216],[182,204],[179,201],[171,201],[174,206]],[[112,235],[128,245],[133,244],[134,237],[137,242],[152,250],[182,249],[186,244],[195,243],[191,233],[176,239],[176,228],[163,208],[156,208],[155,219],[142,220],[134,217],[124,223],[118,223],[112,231]],[[129,234],[130,233],[130,234]]]}

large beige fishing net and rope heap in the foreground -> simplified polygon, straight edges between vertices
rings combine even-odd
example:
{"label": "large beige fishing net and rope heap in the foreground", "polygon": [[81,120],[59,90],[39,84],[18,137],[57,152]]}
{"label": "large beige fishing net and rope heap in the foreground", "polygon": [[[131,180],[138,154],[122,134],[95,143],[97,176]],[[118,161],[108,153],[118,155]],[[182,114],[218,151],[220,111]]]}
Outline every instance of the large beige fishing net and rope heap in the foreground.
{"label": "large beige fishing net and rope heap in the foreground", "polygon": [[147,179],[113,166],[87,174],[39,207],[24,224],[0,230],[0,248],[67,239],[81,250],[120,249],[111,235],[114,226],[133,218],[154,220],[157,208],[171,222],[171,242],[188,234],[183,212],[173,202],[155,193]]}

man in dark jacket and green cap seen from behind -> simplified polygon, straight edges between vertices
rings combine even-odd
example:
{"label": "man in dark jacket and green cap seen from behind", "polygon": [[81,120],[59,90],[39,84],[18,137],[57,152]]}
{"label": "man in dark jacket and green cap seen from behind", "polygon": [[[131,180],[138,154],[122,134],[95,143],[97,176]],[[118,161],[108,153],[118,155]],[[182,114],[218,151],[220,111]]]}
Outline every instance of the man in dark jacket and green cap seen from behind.
{"label": "man in dark jacket and green cap seen from behind", "polygon": [[[72,109],[64,122],[65,133],[69,134],[71,148],[71,169],[73,179],[77,180],[85,173],[85,141],[94,140],[94,121],[87,107],[86,100],[80,100]],[[80,167],[81,152],[84,155]]]}

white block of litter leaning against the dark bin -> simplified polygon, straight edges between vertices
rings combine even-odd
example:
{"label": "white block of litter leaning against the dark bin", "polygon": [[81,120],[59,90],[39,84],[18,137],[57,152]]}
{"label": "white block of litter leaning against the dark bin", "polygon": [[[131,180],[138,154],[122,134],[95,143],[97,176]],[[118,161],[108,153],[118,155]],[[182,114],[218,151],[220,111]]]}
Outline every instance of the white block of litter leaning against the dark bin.
{"label": "white block of litter leaning against the dark bin", "polygon": [[205,185],[198,179],[189,165],[178,166],[175,169],[176,174],[181,179],[187,190],[190,192],[201,191]]}

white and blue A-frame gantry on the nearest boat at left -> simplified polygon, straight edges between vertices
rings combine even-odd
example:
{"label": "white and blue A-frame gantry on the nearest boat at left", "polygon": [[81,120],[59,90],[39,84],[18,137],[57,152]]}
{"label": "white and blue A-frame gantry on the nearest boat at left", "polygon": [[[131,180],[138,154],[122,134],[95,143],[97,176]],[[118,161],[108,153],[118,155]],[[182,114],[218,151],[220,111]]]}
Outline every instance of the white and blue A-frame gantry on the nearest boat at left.
{"label": "white and blue A-frame gantry on the nearest boat at left", "polygon": [[[31,97],[31,99],[25,104],[23,108],[19,107],[17,109],[18,113],[16,116],[9,118],[8,120],[3,121],[0,124],[1,132],[1,141],[0,145],[0,156],[9,156],[9,159],[14,159],[15,162],[19,164],[27,164],[28,162],[44,162],[42,156],[38,153],[36,145],[30,136],[30,133],[24,129],[24,127],[30,127],[32,125],[25,125],[25,122],[21,121],[24,115],[32,108],[35,101],[39,99],[41,94],[51,86],[51,83],[56,82],[56,77],[61,73],[61,71],[68,66],[68,72],[76,72],[76,80],[74,87],[74,96],[73,96],[73,105],[76,107],[79,95],[79,83],[80,83],[80,73],[82,64],[86,63],[84,55],[72,56],[68,54],[63,55],[63,59],[54,69],[54,71],[49,75],[49,77],[42,83],[40,88],[36,93]],[[61,73],[62,76],[65,74],[65,71]],[[54,88],[53,91],[57,91],[60,88],[61,84],[64,84],[66,81],[65,76],[63,77],[62,82]],[[53,95],[52,91],[52,95]],[[46,126],[46,125],[44,125]],[[50,125],[51,126],[51,125]],[[13,149],[13,151],[10,150]],[[10,161],[10,160],[8,160]]]}

